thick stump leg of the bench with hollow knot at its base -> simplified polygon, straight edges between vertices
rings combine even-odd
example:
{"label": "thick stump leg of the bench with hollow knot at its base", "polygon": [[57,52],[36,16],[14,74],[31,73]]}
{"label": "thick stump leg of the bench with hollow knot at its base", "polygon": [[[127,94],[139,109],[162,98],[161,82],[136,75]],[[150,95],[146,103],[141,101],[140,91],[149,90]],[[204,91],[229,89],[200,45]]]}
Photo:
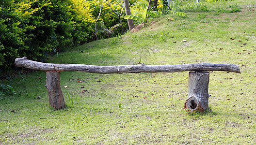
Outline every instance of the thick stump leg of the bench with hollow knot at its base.
{"label": "thick stump leg of the bench with hollow knot at its base", "polygon": [[189,72],[188,99],[184,109],[188,112],[204,112],[208,106],[209,72]]}

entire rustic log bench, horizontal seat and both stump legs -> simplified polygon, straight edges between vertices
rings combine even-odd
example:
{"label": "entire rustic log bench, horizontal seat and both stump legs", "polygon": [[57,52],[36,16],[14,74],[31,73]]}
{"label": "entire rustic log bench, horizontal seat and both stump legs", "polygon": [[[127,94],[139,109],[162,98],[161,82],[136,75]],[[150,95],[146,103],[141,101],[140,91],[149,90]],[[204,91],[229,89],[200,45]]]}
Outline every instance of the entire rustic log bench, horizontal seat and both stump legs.
{"label": "entire rustic log bench, horizontal seat and both stump legs", "polygon": [[178,65],[120,65],[120,66],[95,66],[84,64],[55,64],[42,63],[27,59],[16,58],[16,67],[46,71],[46,87],[49,105],[54,109],[65,107],[63,94],[60,87],[60,72],[86,72],[86,73],[174,73],[189,72],[188,98],[184,109],[189,112],[204,112],[208,109],[208,71],[224,71],[240,73],[238,65],[216,63],[194,63]]}

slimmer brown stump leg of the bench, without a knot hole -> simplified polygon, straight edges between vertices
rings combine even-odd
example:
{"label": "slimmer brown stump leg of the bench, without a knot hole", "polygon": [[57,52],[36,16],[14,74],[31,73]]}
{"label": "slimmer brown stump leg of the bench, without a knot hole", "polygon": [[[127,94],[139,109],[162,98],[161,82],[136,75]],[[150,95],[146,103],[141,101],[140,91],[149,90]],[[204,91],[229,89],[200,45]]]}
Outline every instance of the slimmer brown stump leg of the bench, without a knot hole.
{"label": "slimmer brown stump leg of the bench, without a knot hole", "polygon": [[53,109],[63,109],[65,102],[61,90],[60,72],[46,72],[46,86],[49,98],[49,105]]}

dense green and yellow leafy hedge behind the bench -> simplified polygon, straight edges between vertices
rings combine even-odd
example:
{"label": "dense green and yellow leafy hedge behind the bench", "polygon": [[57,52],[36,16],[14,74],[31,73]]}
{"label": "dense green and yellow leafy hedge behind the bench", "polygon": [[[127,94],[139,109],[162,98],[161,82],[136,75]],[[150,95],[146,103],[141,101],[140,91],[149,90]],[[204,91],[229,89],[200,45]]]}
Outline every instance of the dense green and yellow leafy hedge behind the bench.
{"label": "dense green and yellow leafy hedge behind the bench", "polygon": [[[64,46],[92,41],[92,28],[95,27],[93,18],[97,18],[100,4],[103,11],[98,29],[109,29],[118,24],[118,17],[104,2],[0,0],[0,72],[13,68],[15,58],[26,56],[45,61],[53,50],[56,52],[56,49]],[[117,12],[120,10],[116,4],[112,4],[112,7]],[[127,25],[125,22],[123,26]]]}

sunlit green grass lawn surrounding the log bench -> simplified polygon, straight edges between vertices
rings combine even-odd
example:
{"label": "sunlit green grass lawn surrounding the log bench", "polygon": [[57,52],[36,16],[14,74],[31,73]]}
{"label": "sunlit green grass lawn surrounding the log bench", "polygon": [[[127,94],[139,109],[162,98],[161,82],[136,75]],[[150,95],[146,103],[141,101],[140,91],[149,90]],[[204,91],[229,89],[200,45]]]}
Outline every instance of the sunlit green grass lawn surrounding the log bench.
{"label": "sunlit green grass lawn surrounding the log bench", "polygon": [[[241,11],[224,11],[233,5]],[[66,108],[55,111],[48,106],[46,73],[24,71],[1,80],[20,94],[0,100],[0,145],[256,144],[256,1],[207,6],[208,12],[164,15],[140,32],[69,48],[48,62],[239,65],[240,74],[210,73],[210,112],[183,110],[189,72],[62,72]]]}

